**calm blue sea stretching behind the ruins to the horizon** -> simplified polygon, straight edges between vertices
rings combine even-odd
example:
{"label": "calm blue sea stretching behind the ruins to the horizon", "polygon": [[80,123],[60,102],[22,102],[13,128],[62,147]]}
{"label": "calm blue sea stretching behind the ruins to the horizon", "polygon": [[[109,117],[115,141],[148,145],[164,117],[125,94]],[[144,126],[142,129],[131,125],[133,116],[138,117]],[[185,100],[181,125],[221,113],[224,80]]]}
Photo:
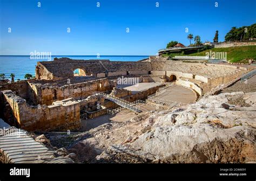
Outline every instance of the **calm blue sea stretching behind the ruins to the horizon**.
{"label": "calm blue sea stretching behind the ruins to the horizon", "polygon": [[[110,61],[138,61],[146,59],[149,55],[52,55],[51,60],[55,57],[68,57],[71,59],[108,59]],[[30,59],[26,55],[0,55],[0,74],[5,74],[5,79],[10,79],[10,74],[15,74],[15,80],[24,80],[25,74],[35,75],[37,61],[49,61],[48,59]],[[60,67],[61,68],[61,67]]]}

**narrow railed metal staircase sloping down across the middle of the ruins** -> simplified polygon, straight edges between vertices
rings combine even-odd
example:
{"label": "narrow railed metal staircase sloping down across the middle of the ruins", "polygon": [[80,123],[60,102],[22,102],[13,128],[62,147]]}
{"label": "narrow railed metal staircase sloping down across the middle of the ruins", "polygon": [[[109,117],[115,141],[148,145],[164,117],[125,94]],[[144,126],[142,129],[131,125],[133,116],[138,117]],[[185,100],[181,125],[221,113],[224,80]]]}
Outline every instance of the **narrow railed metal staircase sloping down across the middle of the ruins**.
{"label": "narrow railed metal staircase sloping down across the middle of the ruins", "polygon": [[104,96],[105,99],[110,100],[110,101],[116,103],[117,105],[120,105],[120,106],[122,106],[126,109],[130,109],[133,112],[136,112],[136,113],[141,113],[142,112],[139,108],[134,106],[134,104],[132,102],[128,102],[126,100],[117,98],[116,96],[101,93],[101,92],[94,92],[93,95],[102,95],[102,96]]}

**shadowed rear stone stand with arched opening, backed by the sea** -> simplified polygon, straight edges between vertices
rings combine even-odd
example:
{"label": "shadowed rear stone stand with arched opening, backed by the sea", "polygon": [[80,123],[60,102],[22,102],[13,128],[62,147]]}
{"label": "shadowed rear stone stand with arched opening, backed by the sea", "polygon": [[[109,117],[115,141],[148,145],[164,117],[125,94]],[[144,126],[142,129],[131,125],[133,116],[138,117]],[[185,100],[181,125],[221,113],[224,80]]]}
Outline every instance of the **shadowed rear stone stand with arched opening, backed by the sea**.
{"label": "shadowed rear stone stand with arched opening, backed by the sea", "polygon": [[36,78],[40,80],[72,78],[74,76],[73,71],[77,68],[83,69],[86,75],[93,75],[99,78],[127,75],[127,72],[131,74],[147,74],[151,71],[150,62],[55,58],[53,61],[37,62]]}

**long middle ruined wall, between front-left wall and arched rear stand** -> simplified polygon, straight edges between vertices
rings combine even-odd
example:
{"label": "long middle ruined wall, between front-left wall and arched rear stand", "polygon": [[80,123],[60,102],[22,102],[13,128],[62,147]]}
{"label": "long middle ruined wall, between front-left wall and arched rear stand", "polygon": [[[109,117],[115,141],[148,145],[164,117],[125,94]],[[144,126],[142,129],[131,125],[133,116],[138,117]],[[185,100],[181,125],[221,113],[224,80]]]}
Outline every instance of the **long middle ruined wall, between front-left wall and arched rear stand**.
{"label": "long middle ruined wall, between front-left wall and arched rear stand", "polygon": [[[53,86],[42,85],[44,83],[50,83]],[[106,78],[73,84],[71,80],[69,85],[64,86],[54,85],[52,81],[42,81],[41,83],[41,80],[24,80],[2,84],[0,91],[11,90],[30,105],[51,105],[54,101],[67,98],[84,99],[96,91],[111,92],[113,87],[116,87],[116,82]]]}

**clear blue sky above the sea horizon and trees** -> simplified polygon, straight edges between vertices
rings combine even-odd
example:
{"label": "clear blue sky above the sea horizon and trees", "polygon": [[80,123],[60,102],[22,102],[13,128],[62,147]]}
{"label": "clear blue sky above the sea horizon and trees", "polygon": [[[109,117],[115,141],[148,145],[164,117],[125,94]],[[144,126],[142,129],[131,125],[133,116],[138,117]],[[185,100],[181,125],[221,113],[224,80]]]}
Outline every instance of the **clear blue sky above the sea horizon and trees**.
{"label": "clear blue sky above the sea horizon and trees", "polygon": [[204,42],[218,30],[223,41],[232,26],[256,23],[255,6],[255,0],[0,0],[0,55],[154,55],[171,40],[188,45],[189,33]]}

